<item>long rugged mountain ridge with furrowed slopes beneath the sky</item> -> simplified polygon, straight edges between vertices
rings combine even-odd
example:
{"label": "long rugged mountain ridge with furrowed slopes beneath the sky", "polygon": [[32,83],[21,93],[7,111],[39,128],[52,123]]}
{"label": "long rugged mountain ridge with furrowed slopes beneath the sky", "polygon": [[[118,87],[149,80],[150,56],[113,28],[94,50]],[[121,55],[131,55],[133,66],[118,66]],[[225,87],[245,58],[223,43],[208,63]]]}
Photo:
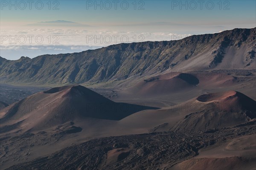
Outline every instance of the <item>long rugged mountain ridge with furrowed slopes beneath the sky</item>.
{"label": "long rugged mountain ridge with furrowed slopes beneath the sky", "polygon": [[182,40],[121,43],[72,54],[0,57],[2,82],[72,84],[123,80],[168,69],[255,69],[256,28]]}

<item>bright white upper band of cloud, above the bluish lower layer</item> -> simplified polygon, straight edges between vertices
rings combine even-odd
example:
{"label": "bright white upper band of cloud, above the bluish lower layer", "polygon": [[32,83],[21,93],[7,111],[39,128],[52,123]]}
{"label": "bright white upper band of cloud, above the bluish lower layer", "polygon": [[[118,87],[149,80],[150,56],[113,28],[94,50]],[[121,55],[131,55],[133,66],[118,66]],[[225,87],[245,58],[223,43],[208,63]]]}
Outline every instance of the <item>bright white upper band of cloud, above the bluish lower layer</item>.
{"label": "bright white upper band of cloud, above the bluish lower layer", "polygon": [[[108,46],[117,43],[142,41],[178,40],[190,35],[178,35],[171,32],[122,32],[110,30],[84,29],[27,29],[23,31],[1,30],[1,45],[72,45],[72,46]],[[9,38],[12,37],[12,40]],[[16,37],[16,38],[15,38]],[[13,38],[16,39],[13,40]]]}

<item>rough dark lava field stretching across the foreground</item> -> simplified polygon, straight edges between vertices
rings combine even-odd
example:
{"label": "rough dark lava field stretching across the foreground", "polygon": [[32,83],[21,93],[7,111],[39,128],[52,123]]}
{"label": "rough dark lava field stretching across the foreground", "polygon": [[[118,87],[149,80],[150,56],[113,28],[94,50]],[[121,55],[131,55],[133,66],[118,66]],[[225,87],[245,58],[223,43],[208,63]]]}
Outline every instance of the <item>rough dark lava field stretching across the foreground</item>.
{"label": "rough dark lava field stretching across the foreground", "polygon": [[[149,133],[92,139],[52,155],[17,164],[7,170],[168,169],[198,155],[201,148],[255,134],[256,124],[198,133]],[[110,154],[112,153],[112,155]],[[116,159],[109,160],[117,155]]]}

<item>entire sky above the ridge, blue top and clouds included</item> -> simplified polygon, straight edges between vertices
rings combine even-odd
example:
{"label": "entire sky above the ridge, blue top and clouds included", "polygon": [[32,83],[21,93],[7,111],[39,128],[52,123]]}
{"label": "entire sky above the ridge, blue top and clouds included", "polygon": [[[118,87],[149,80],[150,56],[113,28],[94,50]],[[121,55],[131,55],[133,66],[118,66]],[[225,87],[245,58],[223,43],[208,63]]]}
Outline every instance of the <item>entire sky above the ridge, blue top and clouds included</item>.
{"label": "entire sky above the ridge, blue top and clouds included", "polygon": [[0,56],[17,60],[254,27],[256,0],[0,0]]}

